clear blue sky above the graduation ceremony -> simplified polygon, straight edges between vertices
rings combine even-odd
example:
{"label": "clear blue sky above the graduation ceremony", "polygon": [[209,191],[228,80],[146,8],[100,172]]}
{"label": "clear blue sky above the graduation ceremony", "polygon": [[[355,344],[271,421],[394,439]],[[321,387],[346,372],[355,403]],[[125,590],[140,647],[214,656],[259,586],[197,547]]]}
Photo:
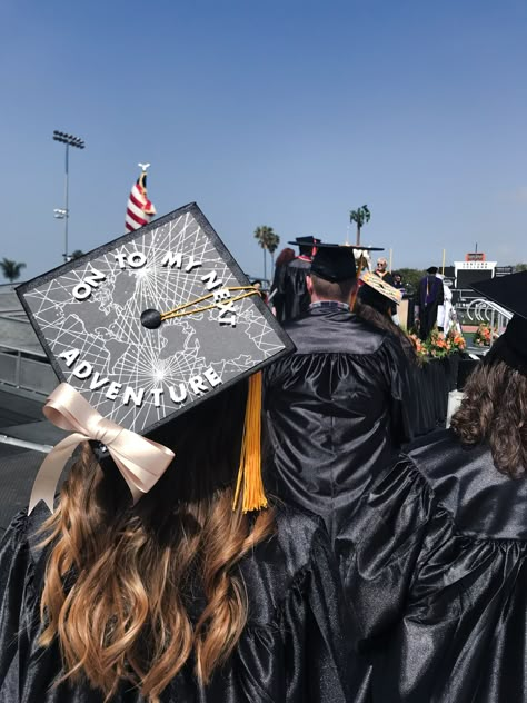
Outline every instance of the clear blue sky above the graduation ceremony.
{"label": "clear blue sky above the graduation ceremony", "polygon": [[[123,234],[138,161],[242,268],[252,232],[364,241],[394,266],[527,261],[526,0],[3,0],[0,258],[33,277]],[[281,245],[280,245],[281,248]]]}

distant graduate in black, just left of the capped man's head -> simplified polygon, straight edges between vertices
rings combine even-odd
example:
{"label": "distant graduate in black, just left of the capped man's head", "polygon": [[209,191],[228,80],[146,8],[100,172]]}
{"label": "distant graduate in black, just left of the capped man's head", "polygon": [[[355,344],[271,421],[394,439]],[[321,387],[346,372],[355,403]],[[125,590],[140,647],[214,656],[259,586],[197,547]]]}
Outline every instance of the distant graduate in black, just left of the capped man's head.
{"label": "distant graduate in black, just left of the capped man's head", "polygon": [[297,237],[295,241],[288,241],[288,244],[296,245],[299,248],[299,255],[286,266],[281,279],[281,288],[278,290],[278,294],[284,298],[280,321],[287,323],[297,319],[309,307],[310,298],[306,286],[306,276],[311,268],[311,260],[319,241],[320,239],[311,236]]}

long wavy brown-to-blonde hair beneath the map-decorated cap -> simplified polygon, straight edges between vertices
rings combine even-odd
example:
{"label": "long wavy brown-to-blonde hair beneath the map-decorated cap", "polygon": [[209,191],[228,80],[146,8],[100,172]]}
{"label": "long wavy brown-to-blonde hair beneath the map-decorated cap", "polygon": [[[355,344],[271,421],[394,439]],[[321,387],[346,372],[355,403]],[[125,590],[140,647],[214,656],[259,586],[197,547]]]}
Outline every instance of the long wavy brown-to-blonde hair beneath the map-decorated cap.
{"label": "long wavy brown-to-blonde hair beneath the map-decorated cap", "polygon": [[153,437],[176,458],[135,507],[83,447],[42,527],[40,643],[59,642],[58,683],[87,679],[109,701],[127,681],[153,703],[189,660],[206,685],[229,659],[248,610],[238,564],[275,532],[272,509],[232,509],[246,396],[237,384]]}

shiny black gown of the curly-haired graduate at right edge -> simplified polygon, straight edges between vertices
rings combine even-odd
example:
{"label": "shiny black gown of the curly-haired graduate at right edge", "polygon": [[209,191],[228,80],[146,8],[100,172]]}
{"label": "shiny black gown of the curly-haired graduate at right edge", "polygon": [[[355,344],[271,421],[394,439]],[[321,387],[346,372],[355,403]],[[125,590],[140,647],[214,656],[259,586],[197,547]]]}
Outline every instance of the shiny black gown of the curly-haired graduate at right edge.
{"label": "shiny black gown of the curly-haired graduate at right edge", "polygon": [[499,474],[487,446],[450,430],[415,445],[337,548],[356,703],[527,701],[527,479]]}

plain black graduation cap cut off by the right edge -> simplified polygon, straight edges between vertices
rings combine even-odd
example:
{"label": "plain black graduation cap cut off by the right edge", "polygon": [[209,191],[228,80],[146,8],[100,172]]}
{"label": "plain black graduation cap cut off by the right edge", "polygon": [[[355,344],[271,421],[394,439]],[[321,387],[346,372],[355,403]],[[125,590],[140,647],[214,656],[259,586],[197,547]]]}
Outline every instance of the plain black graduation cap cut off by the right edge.
{"label": "plain black graduation cap cut off by the right edge", "polygon": [[488,278],[471,288],[513,313],[505,333],[493,344],[484,363],[505,362],[527,376],[527,271]]}

